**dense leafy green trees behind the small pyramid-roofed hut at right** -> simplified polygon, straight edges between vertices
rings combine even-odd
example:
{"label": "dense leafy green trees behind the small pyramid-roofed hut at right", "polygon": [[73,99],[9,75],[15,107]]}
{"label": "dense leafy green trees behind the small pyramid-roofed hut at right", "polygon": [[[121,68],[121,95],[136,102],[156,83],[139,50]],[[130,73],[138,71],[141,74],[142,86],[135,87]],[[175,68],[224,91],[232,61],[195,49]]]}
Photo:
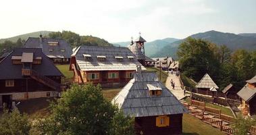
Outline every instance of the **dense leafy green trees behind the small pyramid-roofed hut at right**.
{"label": "dense leafy green trees behind the small pyramid-roofed hut at right", "polygon": [[180,69],[188,78],[199,82],[208,73],[223,90],[228,84],[241,88],[245,80],[256,75],[256,50],[230,50],[226,45],[187,38],[177,52]]}

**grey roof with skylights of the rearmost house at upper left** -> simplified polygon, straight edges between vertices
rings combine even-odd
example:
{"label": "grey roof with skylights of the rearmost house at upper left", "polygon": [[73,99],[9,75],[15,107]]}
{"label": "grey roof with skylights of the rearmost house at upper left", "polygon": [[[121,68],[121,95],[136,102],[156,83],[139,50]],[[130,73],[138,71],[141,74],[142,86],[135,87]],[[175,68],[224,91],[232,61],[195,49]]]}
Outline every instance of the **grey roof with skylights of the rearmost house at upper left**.
{"label": "grey roof with skylights of the rearmost house at upper left", "polygon": [[[49,43],[58,43],[58,45],[49,45]],[[40,38],[29,37],[25,43],[26,48],[42,48],[43,53],[47,57],[51,58],[70,58],[72,55],[72,49],[70,45],[63,39],[51,39],[51,38],[42,38],[42,44],[40,43]],[[51,49],[52,51],[50,51]],[[65,50],[65,51],[61,51]]]}

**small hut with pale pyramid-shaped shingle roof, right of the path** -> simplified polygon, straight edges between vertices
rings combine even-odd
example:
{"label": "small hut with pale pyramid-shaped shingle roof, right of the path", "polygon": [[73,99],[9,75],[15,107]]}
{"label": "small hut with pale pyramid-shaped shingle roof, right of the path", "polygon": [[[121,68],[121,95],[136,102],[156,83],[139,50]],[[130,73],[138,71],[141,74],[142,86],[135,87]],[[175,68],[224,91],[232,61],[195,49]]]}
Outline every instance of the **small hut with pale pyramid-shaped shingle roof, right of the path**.
{"label": "small hut with pale pyramid-shaped shingle roof, right of the path", "polygon": [[209,74],[205,74],[203,78],[197,83],[195,86],[197,88],[197,93],[200,93],[199,91],[203,90],[205,92],[211,92],[211,88],[218,89],[219,87],[213,82]]}

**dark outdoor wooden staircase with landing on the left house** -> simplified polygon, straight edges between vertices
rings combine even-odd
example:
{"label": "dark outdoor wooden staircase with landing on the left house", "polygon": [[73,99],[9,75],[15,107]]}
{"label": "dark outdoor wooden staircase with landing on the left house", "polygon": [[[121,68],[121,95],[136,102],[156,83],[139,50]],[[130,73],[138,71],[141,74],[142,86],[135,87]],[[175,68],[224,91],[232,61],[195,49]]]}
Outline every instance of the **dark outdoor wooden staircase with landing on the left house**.
{"label": "dark outdoor wooden staircase with landing on the left house", "polygon": [[38,82],[41,82],[42,84],[45,84],[46,86],[49,86],[54,90],[60,91],[63,89],[63,86],[61,84],[55,82],[54,80],[51,80],[50,78],[47,78],[46,76],[40,75],[34,70],[22,69],[22,76],[30,76],[32,79],[37,80]]}

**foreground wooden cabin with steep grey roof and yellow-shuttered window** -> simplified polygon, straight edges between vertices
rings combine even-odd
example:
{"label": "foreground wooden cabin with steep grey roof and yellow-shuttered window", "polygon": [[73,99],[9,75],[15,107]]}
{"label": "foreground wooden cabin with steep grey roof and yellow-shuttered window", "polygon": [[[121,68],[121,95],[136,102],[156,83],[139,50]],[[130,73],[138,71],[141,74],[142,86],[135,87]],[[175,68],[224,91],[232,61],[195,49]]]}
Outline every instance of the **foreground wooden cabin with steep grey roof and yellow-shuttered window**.
{"label": "foreground wooden cabin with steep grey roof and yellow-shuttered window", "polygon": [[136,134],[182,134],[182,115],[188,110],[159,81],[155,72],[137,70],[112,100],[126,116],[135,117]]}

